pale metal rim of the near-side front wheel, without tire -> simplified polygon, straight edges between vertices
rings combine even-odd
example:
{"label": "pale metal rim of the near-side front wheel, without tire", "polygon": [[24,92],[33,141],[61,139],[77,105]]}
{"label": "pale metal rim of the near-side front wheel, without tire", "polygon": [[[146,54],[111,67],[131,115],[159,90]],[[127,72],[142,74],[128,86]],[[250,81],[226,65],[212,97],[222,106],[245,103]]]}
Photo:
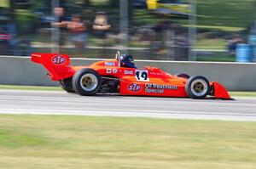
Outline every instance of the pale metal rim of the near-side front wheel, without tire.
{"label": "pale metal rim of the near-side front wheel, without tire", "polygon": [[207,82],[202,79],[196,79],[191,83],[190,90],[195,96],[201,97],[207,93]]}

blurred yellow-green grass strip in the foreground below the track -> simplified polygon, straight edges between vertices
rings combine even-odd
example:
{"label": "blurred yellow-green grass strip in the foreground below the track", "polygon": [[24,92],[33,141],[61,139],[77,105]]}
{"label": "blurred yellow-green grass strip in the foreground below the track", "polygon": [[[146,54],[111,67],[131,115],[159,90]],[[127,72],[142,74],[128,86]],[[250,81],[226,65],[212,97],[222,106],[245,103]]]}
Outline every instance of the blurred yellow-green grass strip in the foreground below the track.
{"label": "blurred yellow-green grass strip in the foreground below the track", "polygon": [[0,115],[1,168],[254,168],[256,123]]}

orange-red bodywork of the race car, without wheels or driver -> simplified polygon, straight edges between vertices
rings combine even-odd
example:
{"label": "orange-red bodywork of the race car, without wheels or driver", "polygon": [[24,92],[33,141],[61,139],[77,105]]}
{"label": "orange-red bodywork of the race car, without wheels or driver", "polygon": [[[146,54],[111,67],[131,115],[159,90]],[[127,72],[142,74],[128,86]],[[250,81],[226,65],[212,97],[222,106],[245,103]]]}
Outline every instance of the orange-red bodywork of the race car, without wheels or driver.
{"label": "orange-red bodywork of the race car, without wheels or driver", "polygon": [[[120,95],[189,97],[185,92],[188,79],[170,75],[156,67],[120,67],[119,59],[98,61],[89,66],[70,66],[67,54],[32,54],[32,61],[44,65],[53,81],[61,81],[72,77],[78,70],[91,68],[101,76],[118,78]],[[214,98],[230,99],[230,94],[221,84],[210,82],[210,85]]]}

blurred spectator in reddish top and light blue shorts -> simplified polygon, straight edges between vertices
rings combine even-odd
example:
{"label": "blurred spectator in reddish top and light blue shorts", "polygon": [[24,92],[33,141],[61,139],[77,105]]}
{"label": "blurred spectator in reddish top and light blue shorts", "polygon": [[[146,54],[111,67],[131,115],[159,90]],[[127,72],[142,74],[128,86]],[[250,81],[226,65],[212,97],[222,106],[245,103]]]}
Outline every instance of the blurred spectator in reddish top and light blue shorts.
{"label": "blurred spectator in reddish top and light blue shorts", "polygon": [[86,25],[78,14],[73,15],[72,21],[68,22],[67,28],[71,33],[71,40],[75,45],[75,51],[78,54],[84,53],[84,45],[86,42]]}

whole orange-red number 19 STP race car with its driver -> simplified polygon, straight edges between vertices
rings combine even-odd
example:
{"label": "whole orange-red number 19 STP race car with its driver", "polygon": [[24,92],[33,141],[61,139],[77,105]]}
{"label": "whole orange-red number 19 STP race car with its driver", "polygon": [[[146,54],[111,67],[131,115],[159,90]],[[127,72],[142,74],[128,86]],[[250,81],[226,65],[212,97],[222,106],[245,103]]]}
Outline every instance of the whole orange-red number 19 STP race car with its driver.
{"label": "whole orange-red number 19 STP race car with its driver", "polygon": [[48,76],[60,82],[68,93],[230,99],[221,84],[209,82],[204,76],[170,75],[149,66],[137,68],[131,55],[120,55],[119,52],[115,59],[89,66],[70,66],[67,54],[32,54],[32,61],[44,65],[49,71]]}

